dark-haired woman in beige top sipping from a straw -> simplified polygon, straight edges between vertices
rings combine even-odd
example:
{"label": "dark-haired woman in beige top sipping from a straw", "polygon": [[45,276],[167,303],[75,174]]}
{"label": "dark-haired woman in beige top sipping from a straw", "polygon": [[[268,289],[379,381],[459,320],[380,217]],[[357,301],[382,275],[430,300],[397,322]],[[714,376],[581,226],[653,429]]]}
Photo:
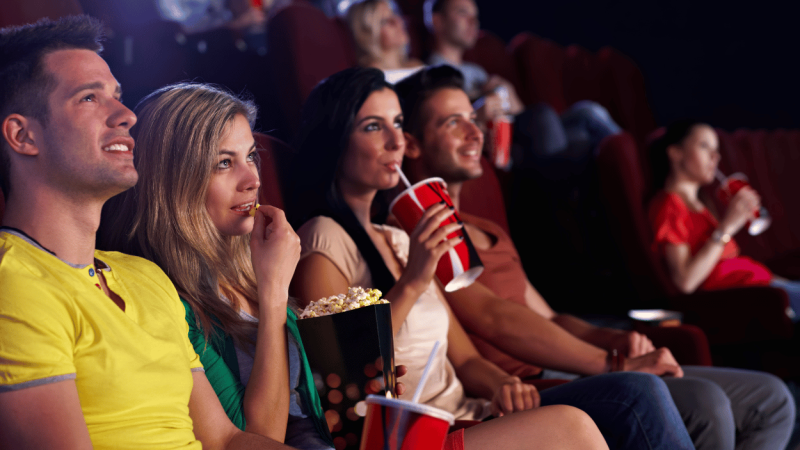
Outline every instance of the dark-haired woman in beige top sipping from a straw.
{"label": "dark-haired woman in beige top sipping from a straw", "polygon": [[405,151],[402,120],[397,96],[376,69],[345,70],[312,92],[289,202],[290,216],[305,222],[292,292],[309,301],[353,285],[381,289],[391,303],[395,356],[409,368],[409,392],[440,341],[421,401],[457,419],[503,416],[451,435],[448,448],[606,448],[584,413],[535,408],[535,389],[481,358],[455,320],[432,282],[439,257],[455,244],[443,239],[458,225],[437,228],[451,210],[430,208],[411,236],[373,223],[379,192],[399,181],[394,167]]}

